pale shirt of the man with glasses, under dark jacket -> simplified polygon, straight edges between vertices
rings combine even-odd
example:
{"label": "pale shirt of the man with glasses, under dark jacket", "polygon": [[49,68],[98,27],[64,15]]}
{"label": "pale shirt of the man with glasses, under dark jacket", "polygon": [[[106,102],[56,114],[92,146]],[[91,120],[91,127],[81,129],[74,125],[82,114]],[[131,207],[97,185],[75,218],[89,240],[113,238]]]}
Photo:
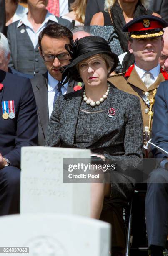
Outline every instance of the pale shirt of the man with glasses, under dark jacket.
{"label": "pale shirt of the man with glasses, under dark jacket", "polygon": [[[52,114],[53,111],[53,103],[54,103],[54,95],[55,95],[55,90],[57,90],[58,86],[57,84],[60,82],[56,80],[54,77],[50,75],[50,73],[47,73],[48,75],[48,110],[49,110],[49,118]],[[67,87],[68,87],[68,82],[61,86],[61,92],[62,94],[67,93]]]}

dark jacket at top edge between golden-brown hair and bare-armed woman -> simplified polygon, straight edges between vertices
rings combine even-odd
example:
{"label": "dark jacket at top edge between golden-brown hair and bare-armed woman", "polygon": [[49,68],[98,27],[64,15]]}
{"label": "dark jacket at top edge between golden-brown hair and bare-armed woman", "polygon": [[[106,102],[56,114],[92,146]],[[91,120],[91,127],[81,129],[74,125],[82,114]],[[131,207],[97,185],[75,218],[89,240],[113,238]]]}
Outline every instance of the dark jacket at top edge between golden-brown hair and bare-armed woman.
{"label": "dark jacket at top edge between golden-brown hair and bare-armed woman", "polygon": [[95,13],[104,10],[105,0],[88,0],[86,5],[85,26],[90,26],[91,19]]}

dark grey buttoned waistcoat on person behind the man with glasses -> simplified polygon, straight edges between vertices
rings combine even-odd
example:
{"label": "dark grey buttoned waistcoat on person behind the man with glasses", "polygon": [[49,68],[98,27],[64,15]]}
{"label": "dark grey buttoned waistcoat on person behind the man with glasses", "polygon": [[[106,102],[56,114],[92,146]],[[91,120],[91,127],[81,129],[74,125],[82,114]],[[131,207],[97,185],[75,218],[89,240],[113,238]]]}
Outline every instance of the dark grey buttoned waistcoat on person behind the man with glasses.
{"label": "dark grey buttoned waistcoat on person behind the man with glasses", "polygon": [[[63,18],[58,18],[58,23],[71,29],[73,24]],[[35,49],[28,36],[25,25],[21,24],[18,28],[19,21],[8,26],[8,42],[10,48],[9,67],[13,67],[19,72],[30,74],[43,74],[47,71],[43,58],[40,56],[38,44]],[[53,23],[49,20],[48,24]],[[23,32],[24,31],[24,32]]]}

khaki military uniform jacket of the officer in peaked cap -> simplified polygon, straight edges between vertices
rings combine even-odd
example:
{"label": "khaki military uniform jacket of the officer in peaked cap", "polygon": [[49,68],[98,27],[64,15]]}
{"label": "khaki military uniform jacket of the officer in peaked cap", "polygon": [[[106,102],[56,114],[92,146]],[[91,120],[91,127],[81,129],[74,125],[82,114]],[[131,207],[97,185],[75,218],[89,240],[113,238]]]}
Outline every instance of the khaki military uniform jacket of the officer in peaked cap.
{"label": "khaki military uniform jacket of the officer in peaked cap", "polygon": [[[148,109],[148,107],[145,104],[145,102],[142,100],[142,98],[138,95],[138,93],[133,90],[133,88],[130,86],[130,84],[140,88],[142,90],[143,94],[145,92],[149,92],[148,99],[150,100],[153,96],[154,89],[157,89],[158,85],[161,82],[165,81],[165,78],[163,77],[163,74],[160,73],[158,75],[157,80],[154,82],[154,84],[150,85],[150,87],[147,89],[147,87],[141,80],[140,76],[136,72],[135,67],[133,68],[133,70],[127,80],[125,80],[124,75],[125,75],[125,73],[124,74],[116,74],[116,75],[113,75],[113,77],[108,78],[108,80],[112,84],[114,84],[115,87],[117,87],[118,89],[139,97],[140,104],[141,104],[141,110],[142,110],[142,116],[143,116],[143,125],[144,125],[144,127],[149,126],[149,115],[145,113],[145,110]],[[152,123],[151,123],[151,126],[152,126]],[[151,127],[150,127],[150,131],[151,131]]]}

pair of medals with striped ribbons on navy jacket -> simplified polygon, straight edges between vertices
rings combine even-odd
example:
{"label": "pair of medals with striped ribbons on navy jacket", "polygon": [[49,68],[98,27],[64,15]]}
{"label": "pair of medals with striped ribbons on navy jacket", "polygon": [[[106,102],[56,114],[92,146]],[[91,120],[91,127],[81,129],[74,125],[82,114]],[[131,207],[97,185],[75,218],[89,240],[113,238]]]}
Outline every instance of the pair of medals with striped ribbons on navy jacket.
{"label": "pair of medals with striped ribbons on navy jacket", "polygon": [[14,100],[2,101],[3,119],[15,118],[15,104]]}

